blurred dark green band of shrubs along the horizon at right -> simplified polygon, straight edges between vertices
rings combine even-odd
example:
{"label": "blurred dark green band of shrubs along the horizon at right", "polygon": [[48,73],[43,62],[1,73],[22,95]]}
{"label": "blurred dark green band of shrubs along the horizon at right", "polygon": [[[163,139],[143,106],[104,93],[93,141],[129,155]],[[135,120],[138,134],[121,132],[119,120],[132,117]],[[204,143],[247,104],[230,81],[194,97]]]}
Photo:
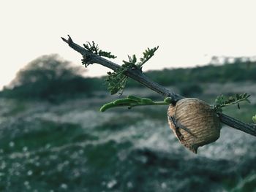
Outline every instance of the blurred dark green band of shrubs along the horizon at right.
{"label": "blurred dark green band of shrubs along the horizon at right", "polygon": [[161,85],[181,85],[187,82],[239,82],[256,80],[256,62],[164,69],[145,73]]}

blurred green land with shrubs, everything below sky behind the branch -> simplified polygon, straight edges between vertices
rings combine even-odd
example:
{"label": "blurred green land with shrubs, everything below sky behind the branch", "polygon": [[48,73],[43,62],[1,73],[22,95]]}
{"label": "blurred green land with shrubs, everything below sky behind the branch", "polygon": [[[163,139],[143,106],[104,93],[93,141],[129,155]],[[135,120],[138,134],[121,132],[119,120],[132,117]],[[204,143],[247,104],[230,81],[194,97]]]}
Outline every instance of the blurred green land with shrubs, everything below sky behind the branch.
{"label": "blurred green land with shrubs, everything below sky behind the branch", "polygon": [[[195,155],[167,125],[167,106],[99,107],[102,78],[86,78],[57,55],[31,61],[0,93],[0,191],[254,192],[256,139],[222,125],[217,142]],[[91,66],[93,67],[93,66]],[[219,94],[251,94],[225,114],[252,121],[255,63],[146,72],[152,80],[209,104]],[[129,80],[124,96],[161,96]]]}

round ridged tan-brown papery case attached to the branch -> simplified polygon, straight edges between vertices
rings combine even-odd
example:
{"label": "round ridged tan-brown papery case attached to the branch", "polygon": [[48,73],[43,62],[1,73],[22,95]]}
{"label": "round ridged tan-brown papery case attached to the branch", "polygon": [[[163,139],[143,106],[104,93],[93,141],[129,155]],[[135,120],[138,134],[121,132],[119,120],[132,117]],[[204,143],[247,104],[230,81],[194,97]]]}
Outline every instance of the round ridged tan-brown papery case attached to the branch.
{"label": "round ridged tan-brown papery case attached to the branch", "polygon": [[167,110],[168,123],[182,145],[197,153],[197,148],[219,138],[220,122],[206,102],[195,98],[179,100]]}

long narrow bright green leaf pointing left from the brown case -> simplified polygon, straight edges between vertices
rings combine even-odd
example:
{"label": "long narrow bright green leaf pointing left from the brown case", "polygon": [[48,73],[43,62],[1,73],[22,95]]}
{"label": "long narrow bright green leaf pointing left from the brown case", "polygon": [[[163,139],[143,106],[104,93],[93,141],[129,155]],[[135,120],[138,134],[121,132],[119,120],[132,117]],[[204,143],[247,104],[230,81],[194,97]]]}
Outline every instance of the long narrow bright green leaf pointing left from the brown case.
{"label": "long narrow bright green leaf pointing left from the brown case", "polygon": [[135,107],[135,106],[166,105],[166,104],[170,104],[171,102],[172,102],[172,99],[170,97],[165,98],[164,101],[152,101],[151,99],[148,99],[148,98],[140,98],[138,96],[127,96],[127,98],[117,99],[108,104],[104,104],[99,111],[105,112],[105,110],[108,110],[113,107],[128,107],[128,109],[131,109],[132,107]]}

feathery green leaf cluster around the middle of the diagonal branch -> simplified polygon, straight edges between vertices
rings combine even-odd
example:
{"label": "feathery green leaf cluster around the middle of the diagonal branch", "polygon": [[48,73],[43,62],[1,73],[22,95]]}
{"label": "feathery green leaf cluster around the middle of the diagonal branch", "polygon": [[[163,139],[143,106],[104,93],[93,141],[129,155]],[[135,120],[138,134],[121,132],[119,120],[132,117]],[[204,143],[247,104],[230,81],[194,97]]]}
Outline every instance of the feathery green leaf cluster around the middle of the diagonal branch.
{"label": "feathery green leaf cluster around the middle of the diagonal branch", "polygon": [[152,49],[146,49],[143,52],[143,58],[140,58],[140,61],[137,61],[136,55],[128,55],[129,61],[123,61],[124,64],[121,65],[119,69],[116,69],[115,72],[108,72],[107,82],[108,82],[108,91],[110,94],[116,94],[119,92],[121,95],[124,91],[125,85],[127,84],[127,75],[125,72],[131,69],[138,69],[141,71],[143,64],[145,64],[157,51],[158,46]]}

